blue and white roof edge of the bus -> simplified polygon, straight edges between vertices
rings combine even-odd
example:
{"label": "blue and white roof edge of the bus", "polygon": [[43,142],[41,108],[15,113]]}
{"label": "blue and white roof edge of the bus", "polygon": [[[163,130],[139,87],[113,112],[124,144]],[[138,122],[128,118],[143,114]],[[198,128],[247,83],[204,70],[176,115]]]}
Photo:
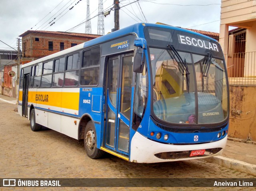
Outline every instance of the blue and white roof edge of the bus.
{"label": "blue and white roof edge of the bus", "polygon": [[68,53],[76,52],[76,51],[81,50],[83,48],[94,46],[94,45],[100,44],[102,42],[106,42],[108,40],[111,40],[111,39],[115,39],[118,36],[124,36],[125,34],[129,34],[129,33],[131,34],[132,32],[134,32],[136,35],[138,35],[138,37],[144,38],[143,28],[146,27],[146,26],[153,26],[153,27],[168,28],[168,29],[172,29],[172,30],[179,30],[179,31],[182,31],[182,32],[188,32],[188,33],[191,33],[191,34],[196,34],[198,36],[202,36],[204,38],[208,38],[210,40],[214,40],[215,42],[218,42],[217,40],[215,40],[213,38],[210,38],[210,37],[205,36],[203,34],[199,34],[199,33],[196,33],[196,32],[190,31],[190,30],[186,30],[186,29],[183,29],[183,28],[178,28],[178,27],[168,26],[168,25],[162,25],[162,24],[137,23],[137,24],[133,24],[131,26],[128,26],[126,28],[122,28],[120,30],[111,32],[111,33],[106,34],[104,36],[94,38],[94,39],[89,40],[87,42],[84,42],[82,44],[78,44],[78,45],[73,46],[71,48],[62,50],[60,52],[56,52],[54,54],[45,56],[43,58],[39,58],[37,60],[34,60],[32,62],[29,62],[27,64],[22,65],[22,68],[27,67],[27,66],[31,66],[31,65],[36,64],[36,63],[51,60],[53,58],[61,57],[61,56],[64,56]]}

